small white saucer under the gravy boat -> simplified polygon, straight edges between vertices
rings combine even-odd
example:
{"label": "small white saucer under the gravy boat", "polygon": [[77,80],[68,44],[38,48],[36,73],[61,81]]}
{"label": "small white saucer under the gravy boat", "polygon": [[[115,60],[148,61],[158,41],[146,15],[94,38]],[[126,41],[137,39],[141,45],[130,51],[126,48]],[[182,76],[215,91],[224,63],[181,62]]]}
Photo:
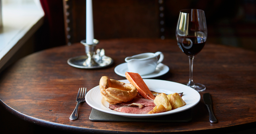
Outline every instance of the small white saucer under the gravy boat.
{"label": "small white saucer under the gravy boat", "polygon": [[[118,66],[115,67],[115,73],[125,77],[125,72],[129,72],[128,67],[127,67],[127,63],[122,63]],[[151,73],[151,74],[145,74],[145,75],[141,75],[142,79],[148,79],[148,78],[155,78],[155,77],[159,77],[163,74],[166,74],[169,71],[169,67],[164,65],[163,63],[159,63],[156,66],[156,70],[155,72]]]}

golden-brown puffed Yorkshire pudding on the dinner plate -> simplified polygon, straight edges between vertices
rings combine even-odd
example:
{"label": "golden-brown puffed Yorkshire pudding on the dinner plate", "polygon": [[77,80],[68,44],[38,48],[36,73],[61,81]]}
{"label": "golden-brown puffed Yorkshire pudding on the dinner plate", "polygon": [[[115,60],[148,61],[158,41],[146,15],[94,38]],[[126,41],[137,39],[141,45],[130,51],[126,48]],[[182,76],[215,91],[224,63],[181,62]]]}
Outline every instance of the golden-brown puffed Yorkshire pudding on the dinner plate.
{"label": "golden-brown puffed Yorkshire pudding on the dinner plate", "polygon": [[100,79],[101,96],[110,104],[130,102],[137,96],[137,89],[132,84],[122,83],[117,80],[102,76]]}

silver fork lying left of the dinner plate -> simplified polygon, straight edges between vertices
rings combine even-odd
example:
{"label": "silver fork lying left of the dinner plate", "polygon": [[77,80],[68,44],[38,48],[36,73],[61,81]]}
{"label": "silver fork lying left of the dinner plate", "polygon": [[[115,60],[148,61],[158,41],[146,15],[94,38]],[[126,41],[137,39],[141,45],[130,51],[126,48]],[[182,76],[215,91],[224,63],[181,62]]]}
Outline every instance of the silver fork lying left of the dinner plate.
{"label": "silver fork lying left of the dinner plate", "polygon": [[[72,112],[72,114],[71,114],[70,117],[69,117],[70,120],[76,120],[76,119],[77,119],[78,106],[79,106],[79,104],[80,104],[81,102],[84,102],[84,101],[85,101],[86,87],[85,87],[85,90],[83,89],[83,91],[82,91],[82,89],[83,89],[83,87],[81,88],[81,90],[80,90],[80,88],[79,88],[79,90],[78,90],[77,98],[76,98],[77,105],[76,105],[75,110]],[[82,92],[83,92],[83,94],[82,94]],[[81,95],[82,95],[82,96],[81,96]]]}

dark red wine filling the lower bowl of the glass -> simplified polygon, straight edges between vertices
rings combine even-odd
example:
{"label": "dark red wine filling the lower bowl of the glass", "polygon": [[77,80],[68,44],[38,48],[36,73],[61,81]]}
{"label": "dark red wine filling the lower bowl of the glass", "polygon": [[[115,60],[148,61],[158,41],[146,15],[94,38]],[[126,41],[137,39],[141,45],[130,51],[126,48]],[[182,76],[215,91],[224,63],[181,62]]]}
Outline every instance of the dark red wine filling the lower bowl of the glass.
{"label": "dark red wine filling the lower bowl of the glass", "polygon": [[203,49],[205,43],[201,37],[186,36],[178,38],[178,45],[187,56],[198,54]]}

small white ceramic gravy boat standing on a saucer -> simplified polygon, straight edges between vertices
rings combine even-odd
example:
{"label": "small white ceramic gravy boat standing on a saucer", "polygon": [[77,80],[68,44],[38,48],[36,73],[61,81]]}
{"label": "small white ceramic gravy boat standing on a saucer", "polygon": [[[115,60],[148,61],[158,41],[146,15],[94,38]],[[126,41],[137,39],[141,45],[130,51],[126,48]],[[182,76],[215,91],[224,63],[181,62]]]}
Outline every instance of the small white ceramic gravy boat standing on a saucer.
{"label": "small white ceramic gravy boat standing on a saucer", "polygon": [[[158,55],[160,55],[159,60],[157,58]],[[153,73],[156,66],[163,61],[163,58],[162,52],[158,51],[156,53],[143,53],[126,57],[125,62],[127,62],[129,72],[145,75]]]}

